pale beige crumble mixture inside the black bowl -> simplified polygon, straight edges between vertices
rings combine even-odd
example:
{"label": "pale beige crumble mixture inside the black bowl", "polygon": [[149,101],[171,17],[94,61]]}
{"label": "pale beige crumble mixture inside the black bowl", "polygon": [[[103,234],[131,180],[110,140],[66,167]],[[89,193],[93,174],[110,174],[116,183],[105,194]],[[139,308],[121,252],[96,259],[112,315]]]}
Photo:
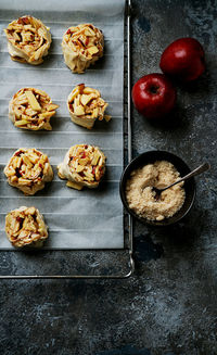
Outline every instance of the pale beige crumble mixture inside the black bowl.
{"label": "pale beige crumble mixture inside the black bowl", "polygon": [[174,216],[184,202],[183,182],[162,192],[159,200],[155,199],[152,187],[163,189],[179,178],[180,174],[175,166],[166,161],[148,164],[133,170],[126,183],[129,207],[140,217],[150,220],[163,220]]}

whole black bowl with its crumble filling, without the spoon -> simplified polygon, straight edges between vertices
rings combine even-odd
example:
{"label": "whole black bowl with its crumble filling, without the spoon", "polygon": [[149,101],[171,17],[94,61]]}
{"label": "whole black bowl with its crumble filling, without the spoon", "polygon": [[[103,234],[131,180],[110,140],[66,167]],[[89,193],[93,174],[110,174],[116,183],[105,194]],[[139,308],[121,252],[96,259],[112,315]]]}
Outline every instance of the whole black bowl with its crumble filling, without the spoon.
{"label": "whole black bowl with its crumble filling, without the spoon", "polygon": [[[154,166],[156,162],[159,163],[167,162],[168,165],[166,164],[166,169],[174,166],[175,170],[171,169],[173,172],[171,176],[165,177],[165,174],[163,176],[164,169],[162,170],[162,167],[159,168],[161,174],[156,173],[155,169],[153,172],[153,168],[150,168],[150,166]],[[148,169],[146,177],[144,177],[143,175],[142,177],[139,176],[139,182],[137,180],[135,181],[136,174],[133,172],[140,172],[141,174],[141,170],[145,166],[149,166],[149,168],[145,168]],[[177,174],[179,175],[176,175],[175,172],[177,172]],[[193,205],[195,199],[194,178],[184,181],[184,185],[182,186],[180,186],[180,183],[177,185],[176,189],[178,189],[178,191],[181,189],[182,191],[181,193],[177,194],[176,189],[175,190],[173,189],[174,191],[171,190],[170,192],[169,192],[170,189],[162,192],[161,195],[162,201],[161,200],[154,201],[154,192],[151,192],[151,187],[154,186],[156,188],[166,187],[169,185],[170,181],[177,181],[178,177],[183,177],[190,172],[191,172],[190,167],[182,161],[182,159],[170,152],[155,150],[155,151],[146,151],[139,154],[125,167],[119,181],[119,194],[126,211],[129,213],[129,215],[131,215],[133,218],[138,219],[140,223],[144,225],[165,227],[179,221],[190,212]],[[157,177],[159,178],[158,183],[156,183]],[[128,181],[130,179],[131,182],[133,182],[135,185],[136,196],[131,195],[132,192],[127,191],[127,189],[129,189]],[[138,190],[138,185],[140,185],[140,191]],[[169,192],[170,196],[173,196],[171,201],[167,192]],[[146,199],[146,203],[141,202],[142,194],[143,194],[143,199]],[[128,201],[127,195],[128,199],[130,196],[131,201]],[[157,204],[158,210],[156,210],[156,203],[158,203]],[[168,204],[168,206],[166,206],[166,204]],[[178,210],[179,204],[180,207]],[[145,213],[142,210],[143,205],[145,205],[146,207]],[[171,215],[171,212],[176,208],[177,212],[174,215]]]}

